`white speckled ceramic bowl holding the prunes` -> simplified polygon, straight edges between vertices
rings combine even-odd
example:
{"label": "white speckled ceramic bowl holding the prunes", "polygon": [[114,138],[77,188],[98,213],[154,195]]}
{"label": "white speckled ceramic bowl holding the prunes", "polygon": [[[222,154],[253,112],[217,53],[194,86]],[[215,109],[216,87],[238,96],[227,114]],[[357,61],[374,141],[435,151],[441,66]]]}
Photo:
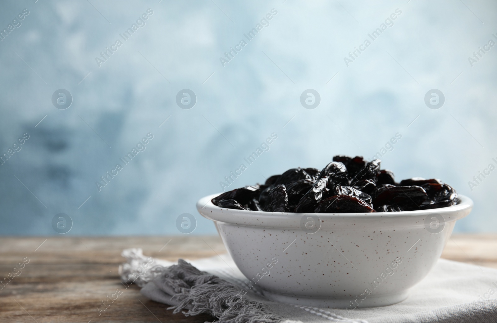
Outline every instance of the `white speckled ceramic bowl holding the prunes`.
{"label": "white speckled ceramic bowl holding the prunes", "polygon": [[[238,268],[269,299],[353,309],[395,304],[435,265],[473,201],[378,213],[277,213],[197,209],[214,221]],[[250,287],[247,287],[247,290]]]}

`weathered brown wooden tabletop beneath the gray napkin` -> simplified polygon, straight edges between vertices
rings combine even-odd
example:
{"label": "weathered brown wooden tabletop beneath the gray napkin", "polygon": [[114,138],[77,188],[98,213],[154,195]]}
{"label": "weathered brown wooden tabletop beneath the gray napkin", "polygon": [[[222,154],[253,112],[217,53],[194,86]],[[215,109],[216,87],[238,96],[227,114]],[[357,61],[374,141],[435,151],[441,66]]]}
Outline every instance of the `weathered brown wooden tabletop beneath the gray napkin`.
{"label": "weathered brown wooden tabletop beneath the gray napkin", "polygon": [[[124,261],[120,255],[133,247],[167,260],[226,252],[221,239],[213,236],[0,238],[0,279],[17,275],[0,290],[0,322],[214,321],[208,315],[172,315],[165,305],[141,295],[137,286],[124,289],[117,273]],[[442,258],[497,268],[497,235],[455,235]],[[23,261],[29,262],[21,272],[14,269]],[[118,288],[122,294],[99,313],[105,308],[101,302]]]}

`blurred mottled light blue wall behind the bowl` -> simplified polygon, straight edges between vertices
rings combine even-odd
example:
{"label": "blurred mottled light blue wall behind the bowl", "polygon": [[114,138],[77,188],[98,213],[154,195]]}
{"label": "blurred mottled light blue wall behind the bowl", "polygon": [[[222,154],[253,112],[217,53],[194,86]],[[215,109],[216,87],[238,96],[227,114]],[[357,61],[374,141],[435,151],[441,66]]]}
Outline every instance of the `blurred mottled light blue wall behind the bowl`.
{"label": "blurred mottled light blue wall behind the bowl", "polygon": [[0,234],[216,234],[200,197],[378,153],[474,200],[456,232],[495,232],[496,22],[491,0],[3,1]]}

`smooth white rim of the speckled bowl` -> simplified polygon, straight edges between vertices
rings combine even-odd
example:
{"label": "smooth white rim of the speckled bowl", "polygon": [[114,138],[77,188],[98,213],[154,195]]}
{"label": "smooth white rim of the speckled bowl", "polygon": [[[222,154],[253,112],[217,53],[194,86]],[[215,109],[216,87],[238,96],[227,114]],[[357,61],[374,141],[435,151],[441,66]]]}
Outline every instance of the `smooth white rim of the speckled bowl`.
{"label": "smooth white rim of the speckled bowl", "polygon": [[[294,220],[296,218],[302,217],[304,214],[317,215],[321,220],[326,219],[367,219],[367,220],[385,220],[394,218],[413,218],[413,217],[425,217],[430,213],[438,213],[440,215],[448,215],[454,213],[466,213],[468,214],[473,208],[473,200],[466,195],[459,195],[459,201],[457,204],[447,207],[426,209],[426,210],[414,210],[414,211],[400,211],[400,212],[358,212],[358,213],[296,213],[296,212],[266,212],[266,211],[252,211],[252,210],[237,210],[231,208],[223,208],[216,206],[212,203],[211,199],[218,194],[211,194],[200,198],[197,201],[198,212],[211,220],[239,224],[239,220],[243,219],[253,219],[253,220]],[[231,219],[227,219],[226,216],[216,216],[224,213],[230,213]]]}

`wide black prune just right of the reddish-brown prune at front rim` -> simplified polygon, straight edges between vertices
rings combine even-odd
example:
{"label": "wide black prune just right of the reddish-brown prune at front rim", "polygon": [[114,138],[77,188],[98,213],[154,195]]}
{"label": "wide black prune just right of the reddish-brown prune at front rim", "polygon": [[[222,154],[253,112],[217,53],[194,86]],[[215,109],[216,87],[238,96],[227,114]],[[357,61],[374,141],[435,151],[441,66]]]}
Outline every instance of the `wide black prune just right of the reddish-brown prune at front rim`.
{"label": "wide black prune just right of the reddish-brown prune at front rim", "polygon": [[398,204],[406,211],[418,210],[428,195],[419,186],[396,186],[384,190],[375,198],[376,206]]}

